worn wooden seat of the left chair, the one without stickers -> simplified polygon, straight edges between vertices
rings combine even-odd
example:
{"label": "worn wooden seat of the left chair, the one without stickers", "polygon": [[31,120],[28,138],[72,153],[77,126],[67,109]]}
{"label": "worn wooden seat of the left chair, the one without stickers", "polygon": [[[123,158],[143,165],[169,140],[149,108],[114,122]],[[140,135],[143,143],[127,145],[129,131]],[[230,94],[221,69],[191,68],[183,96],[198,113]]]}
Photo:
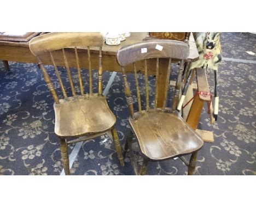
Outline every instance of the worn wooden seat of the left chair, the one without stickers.
{"label": "worn wooden seat of the left chair, the one without stickers", "polygon": [[54,103],[55,133],[60,137],[108,131],[116,118],[103,95],[68,97]]}

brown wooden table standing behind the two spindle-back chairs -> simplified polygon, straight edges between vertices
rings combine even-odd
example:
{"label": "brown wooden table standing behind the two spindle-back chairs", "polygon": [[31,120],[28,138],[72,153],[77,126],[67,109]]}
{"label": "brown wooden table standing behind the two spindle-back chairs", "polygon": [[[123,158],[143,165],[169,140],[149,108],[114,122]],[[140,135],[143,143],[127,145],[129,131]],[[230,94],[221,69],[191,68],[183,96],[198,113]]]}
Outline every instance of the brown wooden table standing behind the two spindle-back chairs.
{"label": "brown wooden table standing behind the two spindle-back chairs", "polygon": [[[129,45],[129,44],[134,44],[136,42],[142,41],[144,38],[146,38],[147,33],[131,33],[131,36],[127,38],[125,41],[122,41],[120,45],[118,46],[108,46],[104,45],[102,47],[102,65],[103,65],[103,70],[105,71],[117,71],[121,72],[121,68],[119,64],[117,63],[117,58],[116,54],[118,49],[121,46],[124,45]],[[190,35],[190,40],[189,40],[189,46],[190,46],[190,51],[189,51],[189,59],[191,62],[194,62],[199,58],[199,54],[197,52],[197,48],[195,45],[194,37],[193,35]],[[70,49],[72,50],[72,49]],[[97,55],[96,52],[94,53],[94,48],[92,48],[91,52],[91,58],[92,58],[92,68],[97,69],[98,66],[98,61],[97,61]],[[80,48],[78,50],[79,52],[79,60],[81,60],[81,65],[82,68],[88,69],[88,63],[86,62],[87,59],[87,50],[84,50],[83,48]],[[73,62],[69,62],[69,66],[75,67],[76,62],[75,62],[75,57],[73,57],[74,54],[70,51],[67,52],[67,57],[68,60],[73,60]],[[56,57],[56,64],[59,66],[64,66],[63,62],[63,57],[61,51],[56,52],[55,54]],[[28,46],[28,42],[10,42],[10,41],[0,41],[0,60],[5,60],[5,65],[6,65],[6,60],[8,61],[14,61],[14,62],[25,62],[25,63],[37,63],[36,57],[33,56],[33,54],[30,52],[30,48]],[[45,64],[52,65],[53,63],[51,62],[50,56],[45,55],[42,56],[42,61]],[[160,65],[159,65],[159,78],[165,78],[166,77],[166,70],[161,70],[167,68],[167,60],[161,60]],[[137,69],[144,71],[143,67],[143,62],[138,63]],[[127,71],[133,72],[132,65],[128,66]],[[148,61],[148,74],[153,75],[155,74],[155,63],[151,62],[150,60]],[[159,87],[159,100],[158,100],[158,106],[162,106],[162,103],[165,99],[164,97],[164,89],[165,89],[165,82],[162,82],[162,84]]]}

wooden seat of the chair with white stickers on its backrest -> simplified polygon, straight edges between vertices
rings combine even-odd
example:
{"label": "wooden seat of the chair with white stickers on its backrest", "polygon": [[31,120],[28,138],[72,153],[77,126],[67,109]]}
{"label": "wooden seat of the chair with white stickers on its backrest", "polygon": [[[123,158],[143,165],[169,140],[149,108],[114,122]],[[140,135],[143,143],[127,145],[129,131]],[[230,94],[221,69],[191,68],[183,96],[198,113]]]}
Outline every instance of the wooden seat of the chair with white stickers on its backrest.
{"label": "wooden seat of the chair with white stickers on its backrest", "polygon": [[177,111],[144,111],[142,115],[135,113],[135,119],[129,121],[142,153],[152,160],[189,154],[203,145]]}

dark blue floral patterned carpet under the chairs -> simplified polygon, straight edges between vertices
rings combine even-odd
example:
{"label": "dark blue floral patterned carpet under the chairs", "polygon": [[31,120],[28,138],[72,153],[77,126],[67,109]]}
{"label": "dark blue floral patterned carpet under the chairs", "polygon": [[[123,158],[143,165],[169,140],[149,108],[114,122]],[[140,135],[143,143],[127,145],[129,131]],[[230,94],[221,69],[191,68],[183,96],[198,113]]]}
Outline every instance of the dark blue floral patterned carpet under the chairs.
{"label": "dark blue floral patterned carpet under the chairs", "polygon": [[[203,109],[199,129],[214,132],[214,143],[205,143],[198,155],[195,175],[256,174],[255,69],[256,35],[222,33],[223,57],[252,60],[242,63],[223,60],[219,66],[219,117],[211,125]],[[59,175],[60,142],[54,134],[53,98],[36,64],[9,62],[6,72],[0,62],[0,175]],[[52,73],[53,67],[48,66]],[[60,69],[60,71],[64,71]],[[104,72],[103,87],[112,73]],[[61,73],[63,76],[63,73]],[[85,70],[83,77],[88,78]],[[96,80],[96,74],[94,79]],[[213,92],[213,71],[209,83]],[[94,81],[95,81],[94,80]],[[66,80],[67,81],[67,80]],[[74,82],[78,77],[74,76]],[[57,91],[59,84],[54,82]],[[96,89],[96,82],[95,89]],[[154,86],[154,77],[149,78]],[[134,87],[132,85],[132,87]],[[79,88],[75,89],[79,91]],[[129,134],[129,115],[121,74],[117,74],[107,94],[116,115],[116,128],[122,145]],[[137,102],[133,100],[133,102]],[[142,157],[133,140],[136,157]],[[73,146],[69,147],[69,153]],[[188,159],[188,157],[187,157]],[[84,142],[71,169],[73,175],[132,175],[129,152],[121,167],[112,140],[106,135]],[[185,175],[187,167],[177,160],[149,162],[149,175]]]}

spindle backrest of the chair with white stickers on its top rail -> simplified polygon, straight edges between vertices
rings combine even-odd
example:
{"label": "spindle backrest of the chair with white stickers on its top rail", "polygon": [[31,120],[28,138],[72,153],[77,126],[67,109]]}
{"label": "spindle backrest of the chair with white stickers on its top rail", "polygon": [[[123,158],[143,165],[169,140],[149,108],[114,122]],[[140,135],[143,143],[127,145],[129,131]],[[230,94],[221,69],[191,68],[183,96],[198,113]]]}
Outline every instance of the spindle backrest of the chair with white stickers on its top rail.
{"label": "spindle backrest of the chair with white stickers on its top rail", "polygon": [[[187,42],[175,41],[175,40],[147,40],[142,41],[137,44],[121,47],[117,53],[118,63],[121,65],[123,78],[124,78],[124,88],[125,96],[129,106],[129,111],[131,117],[134,117],[133,104],[131,99],[131,90],[127,82],[125,66],[128,64],[133,64],[134,74],[135,74],[135,84],[136,84],[136,93],[138,99],[138,112],[142,113],[141,106],[141,94],[139,92],[138,78],[137,78],[137,69],[135,62],[144,60],[144,79],[145,79],[145,95],[146,95],[146,111],[149,111],[149,86],[148,86],[148,69],[147,69],[147,59],[156,59],[156,74],[155,74],[155,103],[154,110],[158,108],[158,88],[160,82],[166,82],[165,88],[165,97],[167,97],[168,86],[171,75],[171,61],[172,59],[180,60],[178,78],[176,81],[175,93],[173,98],[172,109],[177,108],[178,99],[179,99],[179,90],[181,89],[182,74],[184,70],[184,60],[188,58],[189,55],[189,45]],[[159,59],[167,58],[168,59],[168,68],[166,80],[159,80]],[[166,108],[166,99],[162,109]]]}

